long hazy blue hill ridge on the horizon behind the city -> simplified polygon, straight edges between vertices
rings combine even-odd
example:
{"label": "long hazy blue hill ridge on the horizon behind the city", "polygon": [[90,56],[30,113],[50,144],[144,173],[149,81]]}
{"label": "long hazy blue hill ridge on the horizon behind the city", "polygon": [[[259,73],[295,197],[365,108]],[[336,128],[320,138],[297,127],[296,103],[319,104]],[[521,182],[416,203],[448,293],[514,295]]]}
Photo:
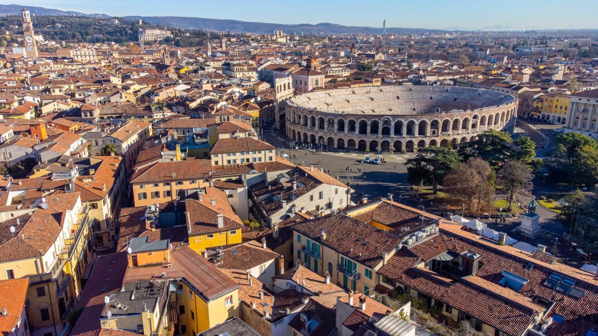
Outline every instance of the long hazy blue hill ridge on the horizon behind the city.
{"label": "long hazy blue hill ridge on the horizon behind the city", "polygon": [[[283,25],[280,23],[246,22],[237,20],[206,19],[203,17],[181,16],[126,16],[126,19],[142,19],[151,25],[171,26],[183,29],[208,29],[218,32],[230,30],[233,33],[272,33],[274,30],[283,30],[285,33],[382,33],[382,28],[343,26],[335,23],[301,23],[299,25]],[[445,32],[446,30],[430,30],[430,32]],[[386,33],[423,33],[425,28],[386,28]]]}

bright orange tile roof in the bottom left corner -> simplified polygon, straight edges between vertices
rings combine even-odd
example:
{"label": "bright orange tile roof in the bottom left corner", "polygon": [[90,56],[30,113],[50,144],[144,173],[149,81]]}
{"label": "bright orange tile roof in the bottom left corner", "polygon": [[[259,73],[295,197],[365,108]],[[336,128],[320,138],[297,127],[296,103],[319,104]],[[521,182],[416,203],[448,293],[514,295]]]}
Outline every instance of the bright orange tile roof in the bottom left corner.
{"label": "bright orange tile roof in the bottom left corner", "polygon": [[11,334],[17,322],[23,318],[28,286],[29,278],[0,280],[0,305],[7,312],[6,316],[0,316],[0,334]]}

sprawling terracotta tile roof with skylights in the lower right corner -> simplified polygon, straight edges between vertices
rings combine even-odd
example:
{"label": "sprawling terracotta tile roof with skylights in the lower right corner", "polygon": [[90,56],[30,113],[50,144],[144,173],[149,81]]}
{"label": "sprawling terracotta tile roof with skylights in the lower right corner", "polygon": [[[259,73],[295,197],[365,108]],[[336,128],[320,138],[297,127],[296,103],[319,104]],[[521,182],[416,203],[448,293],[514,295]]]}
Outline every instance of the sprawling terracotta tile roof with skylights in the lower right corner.
{"label": "sprawling terracotta tile roof with skylights in the lower right corner", "polygon": [[[437,298],[508,334],[522,334],[531,323],[534,311],[544,310],[530,302],[535,295],[554,301],[554,307],[546,317],[554,313],[565,316],[563,323],[551,324],[545,335],[584,335],[588,329],[598,328],[598,322],[591,318],[592,313],[587,309],[598,307],[598,280],[591,274],[559,263],[548,264],[533,258],[531,253],[499,246],[462,230],[441,228],[440,234],[417,245],[418,252],[429,256],[441,251],[444,248],[436,247],[440,242],[448,251],[457,254],[467,251],[480,254],[481,267],[475,276],[448,279],[451,281],[447,282],[433,271],[415,269],[413,267],[420,258],[409,252],[413,252],[413,248],[395,253],[379,274]],[[436,251],[425,253],[426,248]],[[503,271],[523,277],[527,283],[518,292],[503,288],[499,285]],[[551,273],[570,277],[576,281],[574,287],[584,295],[575,298],[545,286]]]}

